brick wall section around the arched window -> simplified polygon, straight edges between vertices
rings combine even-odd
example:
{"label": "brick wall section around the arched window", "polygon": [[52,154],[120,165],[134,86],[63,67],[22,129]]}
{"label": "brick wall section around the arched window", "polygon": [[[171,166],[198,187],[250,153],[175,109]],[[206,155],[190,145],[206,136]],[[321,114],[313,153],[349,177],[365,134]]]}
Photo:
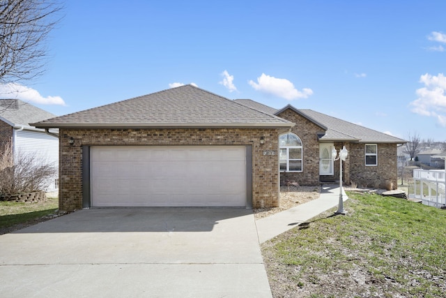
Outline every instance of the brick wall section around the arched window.
{"label": "brick wall section around the arched window", "polygon": [[283,119],[294,122],[295,126],[291,132],[295,133],[302,140],[302,172],[298,173],[280,173],[281,181],[293,180],[300,185],[314,186],[319,184],[319,142],[316,133],[322,131],[322,128],[316,126],[312,121],[300,116],[293,110],[284,110],[277,115]]}

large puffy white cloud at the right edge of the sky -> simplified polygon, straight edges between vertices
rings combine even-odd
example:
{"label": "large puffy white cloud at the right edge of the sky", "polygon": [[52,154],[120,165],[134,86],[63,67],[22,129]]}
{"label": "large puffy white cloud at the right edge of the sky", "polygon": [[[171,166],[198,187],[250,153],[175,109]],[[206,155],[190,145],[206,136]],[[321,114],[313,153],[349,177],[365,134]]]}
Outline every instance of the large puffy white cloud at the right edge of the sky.
{"label": "large puffy white cloud at the right edge of the sky", "polygon": [[412,112],[434,117],[442,126],[446,126],[446,77],[443,73],[437,76],[426,73],[420,77],[423,88],[417,89],[417,100],[410,103]]}

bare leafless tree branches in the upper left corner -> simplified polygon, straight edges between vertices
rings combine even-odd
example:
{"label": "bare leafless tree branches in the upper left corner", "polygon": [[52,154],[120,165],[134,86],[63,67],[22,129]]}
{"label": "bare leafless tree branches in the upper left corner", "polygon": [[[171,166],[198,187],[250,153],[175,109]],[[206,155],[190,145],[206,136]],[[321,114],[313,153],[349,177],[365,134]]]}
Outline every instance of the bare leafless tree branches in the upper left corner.
{"label": "bare leafless tree branches in the upper left corner", "polygon": [[43,73],[49,32],[59,22],[57,0],[0,0],[0,83]]}

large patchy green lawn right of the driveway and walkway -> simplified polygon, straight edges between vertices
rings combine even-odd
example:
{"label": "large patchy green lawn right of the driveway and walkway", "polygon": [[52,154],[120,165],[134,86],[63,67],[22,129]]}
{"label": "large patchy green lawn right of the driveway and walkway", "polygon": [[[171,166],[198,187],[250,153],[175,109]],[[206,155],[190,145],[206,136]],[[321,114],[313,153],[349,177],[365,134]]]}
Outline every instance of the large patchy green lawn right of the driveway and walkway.
{"label": "large patchy green lawn right of the driveway and walkway", "polygon": [[290,296],[330,297],[337,287],[334,297],[444,297],[446,211],[380,195],[348,197],[346,216],[322,214],[263,246],[273,293],[275,280],[285,278]]}

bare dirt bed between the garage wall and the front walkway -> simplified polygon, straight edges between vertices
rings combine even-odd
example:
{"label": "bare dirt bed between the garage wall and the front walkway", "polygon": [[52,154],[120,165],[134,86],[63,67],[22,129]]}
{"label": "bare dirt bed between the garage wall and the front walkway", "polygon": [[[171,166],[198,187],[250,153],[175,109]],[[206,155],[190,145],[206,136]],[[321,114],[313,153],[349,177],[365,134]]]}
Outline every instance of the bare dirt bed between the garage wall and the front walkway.
{"label": "bare dirt bed between the garage wall and the front walkway", "polygon": [[264,218],[300,204],[316,200],[321,194],[321,186],[280,186],[280,207],[255,208],[256,219]]}

